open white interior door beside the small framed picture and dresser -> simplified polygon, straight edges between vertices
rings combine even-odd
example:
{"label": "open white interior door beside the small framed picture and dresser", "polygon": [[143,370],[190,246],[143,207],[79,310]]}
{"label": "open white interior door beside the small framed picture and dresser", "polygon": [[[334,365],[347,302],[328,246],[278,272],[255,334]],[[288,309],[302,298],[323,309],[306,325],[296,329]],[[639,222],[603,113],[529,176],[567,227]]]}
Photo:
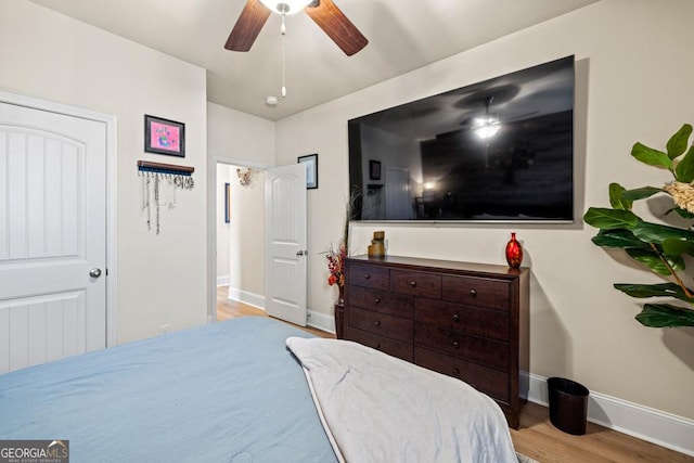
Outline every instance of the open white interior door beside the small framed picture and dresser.
{"label": "open white interior door beside the small framed picture and dresser", "polygon": [[266,173],[266,311],[306,326],[306,167]]}

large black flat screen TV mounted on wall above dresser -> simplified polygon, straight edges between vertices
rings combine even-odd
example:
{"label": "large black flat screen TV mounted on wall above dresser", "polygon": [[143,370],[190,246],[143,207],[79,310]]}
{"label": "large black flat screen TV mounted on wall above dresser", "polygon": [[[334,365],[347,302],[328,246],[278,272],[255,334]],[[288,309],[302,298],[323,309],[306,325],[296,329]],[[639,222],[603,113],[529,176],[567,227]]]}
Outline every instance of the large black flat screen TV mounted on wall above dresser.
{"label": "large black flat screen TV mounted on wall above dresser", "polygon": [[574,63],[349,120],[356,220],[573,222]]}

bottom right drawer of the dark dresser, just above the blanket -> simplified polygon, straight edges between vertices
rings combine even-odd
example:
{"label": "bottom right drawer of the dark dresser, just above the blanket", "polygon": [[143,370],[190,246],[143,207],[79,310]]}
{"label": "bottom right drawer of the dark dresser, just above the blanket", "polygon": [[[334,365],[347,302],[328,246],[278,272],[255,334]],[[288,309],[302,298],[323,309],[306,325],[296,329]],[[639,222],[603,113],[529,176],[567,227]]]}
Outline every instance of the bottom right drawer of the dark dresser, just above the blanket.
{"label": "bottom right drawer of the dark dresser, just above the blanket", "polygon": [[414,363],[448,376],[453,376],[485,393],[493,399],[509,402],[509,373],[442,356],[421,347],[414,348]]}

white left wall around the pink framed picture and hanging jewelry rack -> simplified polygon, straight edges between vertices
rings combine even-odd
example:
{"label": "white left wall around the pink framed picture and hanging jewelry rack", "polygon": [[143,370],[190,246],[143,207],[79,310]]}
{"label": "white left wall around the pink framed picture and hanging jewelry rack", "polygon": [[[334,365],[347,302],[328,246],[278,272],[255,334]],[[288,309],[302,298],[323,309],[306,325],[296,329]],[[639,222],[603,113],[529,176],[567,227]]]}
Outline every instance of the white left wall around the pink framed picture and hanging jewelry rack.
{"label": "white left wall around the pink framed picture and hanging jewelry rack", "polygon": [[[205,322],[205,70],[27,1],[0,0],[0,89],[117,117],[117,301],[120,343]],[[185,124],[185,158],[144,154],[144,114]],[[138,159],[195,167],[196,187],[141,215]]]}

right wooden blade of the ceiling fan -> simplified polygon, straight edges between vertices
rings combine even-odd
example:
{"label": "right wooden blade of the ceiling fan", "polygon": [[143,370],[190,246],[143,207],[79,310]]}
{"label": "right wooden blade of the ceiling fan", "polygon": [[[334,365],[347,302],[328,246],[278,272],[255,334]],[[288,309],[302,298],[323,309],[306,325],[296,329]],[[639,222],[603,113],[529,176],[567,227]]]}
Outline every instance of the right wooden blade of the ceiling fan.
{"label": "right wooden blade of the ceiling fan", "polygon": [[319,0],[318,4],[309,4],[304,11],[347,56],[351,56],[369,43],[333,0]]}

